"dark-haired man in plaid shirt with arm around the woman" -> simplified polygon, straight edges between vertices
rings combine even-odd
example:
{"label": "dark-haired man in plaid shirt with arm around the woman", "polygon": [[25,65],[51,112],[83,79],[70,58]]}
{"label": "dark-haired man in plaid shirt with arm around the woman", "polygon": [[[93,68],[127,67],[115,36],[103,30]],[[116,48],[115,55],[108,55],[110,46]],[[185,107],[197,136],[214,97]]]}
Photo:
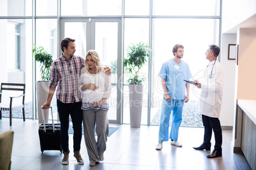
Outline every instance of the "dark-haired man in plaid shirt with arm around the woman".
{"label": "dark-haired man in plaid shirt with arm around the woman", "polygon": [[[43,109],[50,107],[55,88],[57,108],[60,119],[60,138],[63,149],[64,158],[62,164],[69,164],[69,114],[72,119],[74,136],[73,149],[74,157],[78,164],[83,164],[83,159],[80,155],[80,147],[82,140],[82,110],[81,96],[79,91],[80,72],[84,66],[84,60],[80,56],[74,56],[76,51],[75,39],[64,38],[61,43],[62,55],[57,58],[51,66],[49,93]],[[111,73],[107,68],[106,72]]]}

